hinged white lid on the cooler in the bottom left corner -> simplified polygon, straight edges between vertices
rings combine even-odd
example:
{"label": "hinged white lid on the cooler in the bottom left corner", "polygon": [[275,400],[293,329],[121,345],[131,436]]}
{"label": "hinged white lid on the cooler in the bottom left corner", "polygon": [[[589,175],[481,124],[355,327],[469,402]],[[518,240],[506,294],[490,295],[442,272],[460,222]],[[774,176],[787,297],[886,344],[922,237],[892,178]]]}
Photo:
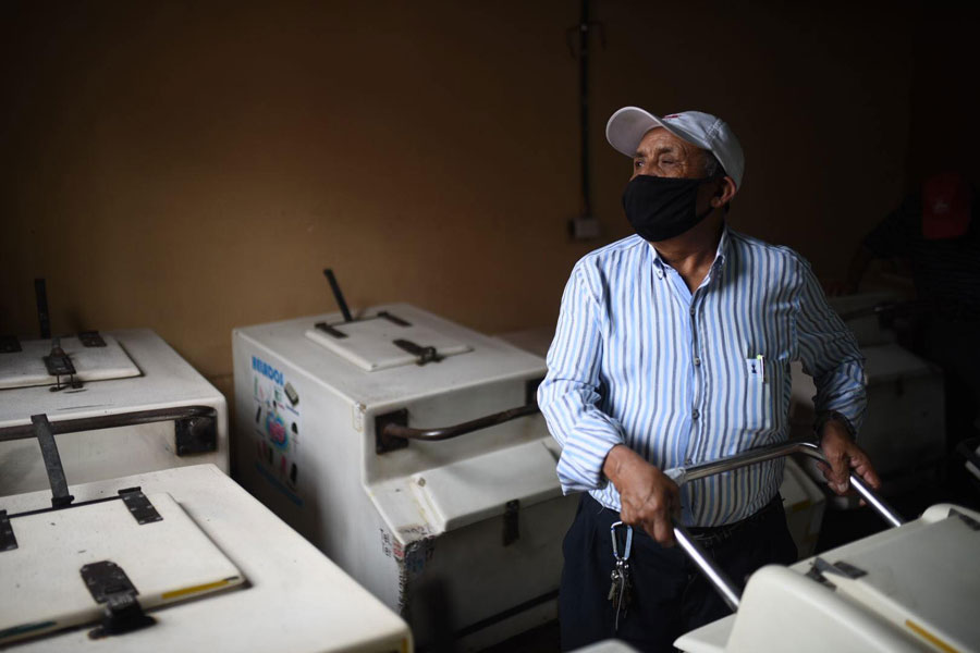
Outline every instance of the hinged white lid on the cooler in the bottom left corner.
{"label": "hinged white lid on the cooler in the bottom left corner", "polygon": [[244,581],[170,494],[148,498],[161,520],[140,525],[121,498],[11,516],[17,549],[0,551],[0,645],[99,621],[81,574],[91,563],[122,568],[144,609]]}

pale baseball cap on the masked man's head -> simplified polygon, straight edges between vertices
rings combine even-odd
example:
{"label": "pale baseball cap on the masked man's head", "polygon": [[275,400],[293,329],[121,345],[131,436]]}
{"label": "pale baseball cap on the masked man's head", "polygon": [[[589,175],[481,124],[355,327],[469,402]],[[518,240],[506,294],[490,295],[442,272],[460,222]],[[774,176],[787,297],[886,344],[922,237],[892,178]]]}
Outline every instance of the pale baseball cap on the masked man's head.
{"label": "pale baseball cap on the masked man's head", "polygon": [[718,159],[727,174],[742,188],[745,155],[732,127],[720,118],[701,111],[684,111],[658,118],[639,107],[623,107],[605,124],[605,138],[617,151],[629,158],[636,153],[644,135],[663,127],[677,138],[706,149]]}

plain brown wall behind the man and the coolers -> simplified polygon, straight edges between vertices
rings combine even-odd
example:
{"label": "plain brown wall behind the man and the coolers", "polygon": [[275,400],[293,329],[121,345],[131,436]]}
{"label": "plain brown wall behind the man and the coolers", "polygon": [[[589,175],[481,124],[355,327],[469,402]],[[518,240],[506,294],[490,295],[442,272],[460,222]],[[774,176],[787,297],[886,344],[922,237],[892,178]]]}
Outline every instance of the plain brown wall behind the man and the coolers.
{"label": "plain brown wall behind the man and the coolers", "polygon": [[[151,326],[230,391],[235,325],[404,300],[553,323],[628,234],[609,114],[702,109],[747,151],[732,223],[843,272],[906,173],[904,11],[595,2],[599,242],[579,210],[578,2],[5,2],[0,332]],[[769,3],[773,8],[780,3]],[[882,4],[882,8],[887,5]]]}

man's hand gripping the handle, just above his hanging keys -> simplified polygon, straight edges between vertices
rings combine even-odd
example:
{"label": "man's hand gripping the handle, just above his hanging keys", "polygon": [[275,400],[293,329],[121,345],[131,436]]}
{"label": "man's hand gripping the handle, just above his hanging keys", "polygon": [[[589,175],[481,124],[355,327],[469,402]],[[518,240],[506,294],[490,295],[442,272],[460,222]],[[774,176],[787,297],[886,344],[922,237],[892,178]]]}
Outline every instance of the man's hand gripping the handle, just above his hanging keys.
{"label": "man's hand gripping the handle, just above his hanging keys", "polygon": [[628,446],[610,449],[602,472],[620,492],[620,518],[642,527],[663,546],[673,546],[671,517],[681,515],[681,489]]}

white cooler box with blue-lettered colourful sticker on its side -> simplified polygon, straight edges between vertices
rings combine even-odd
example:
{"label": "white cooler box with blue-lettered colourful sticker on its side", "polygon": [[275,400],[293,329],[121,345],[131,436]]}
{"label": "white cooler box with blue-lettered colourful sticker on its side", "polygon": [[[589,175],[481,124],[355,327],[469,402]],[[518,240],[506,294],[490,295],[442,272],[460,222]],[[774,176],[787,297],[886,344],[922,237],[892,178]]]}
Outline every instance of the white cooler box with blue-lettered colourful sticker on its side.
{"label": "white cooler box with blue-lettered colourful sticker on its side", "polygon": [[[577,497],[534,407],[540,357],[403,304],[232,340],[240,481],[420,645],[488,645],[556,616]],[[383,435],[440,438],[515,408],[446,440]]]}

